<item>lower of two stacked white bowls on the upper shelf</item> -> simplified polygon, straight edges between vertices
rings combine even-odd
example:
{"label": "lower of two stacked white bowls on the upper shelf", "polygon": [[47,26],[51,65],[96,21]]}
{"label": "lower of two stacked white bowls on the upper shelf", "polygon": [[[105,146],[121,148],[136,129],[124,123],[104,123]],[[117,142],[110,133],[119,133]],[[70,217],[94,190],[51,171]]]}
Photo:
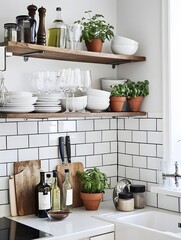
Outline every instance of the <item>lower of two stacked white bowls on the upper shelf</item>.
{"label": "lower of two stacked white bowls on the upper shelf", "polygon": [[136,44],[111,44],[111,50],[115,54],[133,55],[138,50]]}

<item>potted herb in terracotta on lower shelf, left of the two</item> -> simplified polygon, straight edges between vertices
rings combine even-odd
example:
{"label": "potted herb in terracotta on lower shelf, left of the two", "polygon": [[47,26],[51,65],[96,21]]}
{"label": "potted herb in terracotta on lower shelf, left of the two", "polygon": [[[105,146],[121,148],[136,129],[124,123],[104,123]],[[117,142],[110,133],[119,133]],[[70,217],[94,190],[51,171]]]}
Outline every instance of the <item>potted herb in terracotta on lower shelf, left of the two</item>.
{"label": "potted herb in terracotta on lower shelf, left of the two", "polygon": [[112,87],[110,96],[110,109],[112,112],[121,112],[126,102],[127,85],[126,83],[117,84]]}

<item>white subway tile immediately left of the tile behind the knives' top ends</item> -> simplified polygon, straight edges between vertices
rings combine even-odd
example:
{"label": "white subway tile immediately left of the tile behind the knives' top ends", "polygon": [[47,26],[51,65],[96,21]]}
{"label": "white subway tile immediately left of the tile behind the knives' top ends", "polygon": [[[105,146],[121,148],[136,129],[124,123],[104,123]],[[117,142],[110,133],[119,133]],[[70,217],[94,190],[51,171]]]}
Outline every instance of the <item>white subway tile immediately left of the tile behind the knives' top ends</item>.
{"label": "white subway tile immediately left of the tile behind the knives' top ends", "polygon": [[30,147],[48,146],[48,134],[30,135],[29,146]]}

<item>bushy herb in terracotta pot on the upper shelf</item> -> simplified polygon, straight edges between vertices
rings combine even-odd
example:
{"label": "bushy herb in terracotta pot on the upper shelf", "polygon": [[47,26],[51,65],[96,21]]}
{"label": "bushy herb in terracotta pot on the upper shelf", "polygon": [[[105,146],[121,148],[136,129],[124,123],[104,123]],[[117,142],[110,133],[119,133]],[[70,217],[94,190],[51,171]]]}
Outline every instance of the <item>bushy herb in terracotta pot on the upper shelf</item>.
{"label": "bushy herb in terracotta pot on the upper shelf", "polygon": [[114,27],[106,23],[102,14],[91,16],[92,11],[85,11],[88,17],[83,17],[75,23],[82,24],[83,30],[80,41],[84,40],[88,51],[101,52],[103,42],[114,36]]}

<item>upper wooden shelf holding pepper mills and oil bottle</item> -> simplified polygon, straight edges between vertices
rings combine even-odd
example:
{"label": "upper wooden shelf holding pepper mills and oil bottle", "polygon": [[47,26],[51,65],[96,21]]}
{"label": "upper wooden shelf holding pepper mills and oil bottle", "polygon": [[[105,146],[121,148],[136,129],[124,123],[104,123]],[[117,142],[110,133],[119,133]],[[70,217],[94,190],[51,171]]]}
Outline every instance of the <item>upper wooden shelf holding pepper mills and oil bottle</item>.
{"label": "upper wooden shelf holding pepper mills and oil bottle", "polygon": [[0,43],[0,45],[6,46],[7,52],[12,52],[14,56],[26,56],[72,62],[111,64],[115,66],[122,63],[140,62],[146,60],[143,56],[96,53],[19,42],[4,42]]}

